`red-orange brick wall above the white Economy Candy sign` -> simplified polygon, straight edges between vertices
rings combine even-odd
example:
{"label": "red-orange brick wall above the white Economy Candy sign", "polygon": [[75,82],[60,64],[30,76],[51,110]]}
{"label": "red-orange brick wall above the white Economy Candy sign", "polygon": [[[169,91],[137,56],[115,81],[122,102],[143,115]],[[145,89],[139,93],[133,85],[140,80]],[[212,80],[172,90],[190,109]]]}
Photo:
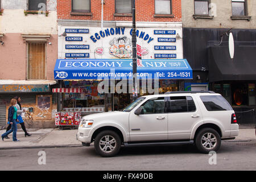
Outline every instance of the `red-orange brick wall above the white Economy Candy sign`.
{"label": "red-orange brick wall above the white Economy Candy sign", "polygon": [[[72,0],[57,0],[58,19],[101,20],[101,0],[91,0],[91,15],[71,15]],[[136,0],[137,22],[181,22],[181,0],[172,0],[172,14],[174,17],[154,17],[155,0]],[[104,20],[132,21],[132,16],[117,16],[115,0],[105,0]]]}

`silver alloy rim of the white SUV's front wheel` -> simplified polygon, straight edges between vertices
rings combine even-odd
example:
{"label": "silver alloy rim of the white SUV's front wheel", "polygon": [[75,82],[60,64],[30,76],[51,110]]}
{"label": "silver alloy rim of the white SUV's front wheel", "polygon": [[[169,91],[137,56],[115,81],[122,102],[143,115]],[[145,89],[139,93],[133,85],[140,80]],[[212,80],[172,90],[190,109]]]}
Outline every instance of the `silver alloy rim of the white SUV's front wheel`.
{"label": "silver alloy rim of the white SUV's front wheel", "polygon": [[117,142],[111,135],[105,135],[100,139],[100,149],[103,152],[109,153],[115,150]]}

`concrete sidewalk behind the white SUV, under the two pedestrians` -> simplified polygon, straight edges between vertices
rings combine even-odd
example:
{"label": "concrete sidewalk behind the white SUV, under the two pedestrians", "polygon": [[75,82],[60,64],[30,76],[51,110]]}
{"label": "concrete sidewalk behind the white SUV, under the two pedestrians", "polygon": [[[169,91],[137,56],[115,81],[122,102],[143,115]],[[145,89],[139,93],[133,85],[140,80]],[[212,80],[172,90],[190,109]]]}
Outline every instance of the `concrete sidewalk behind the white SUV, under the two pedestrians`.
{"label": "concrete sidewalk behind the white SUV, under the two pedestrians", "polygon": [[[0,134],[5,130],[0,130]],[[1,149],[16,148],[51,148],[51,147],[81,147],[82,144],[76,140],[77,129],[75,130],[59,130],[59,129],[28,129],[31,137],[24,137],[24,132],[19,129],[17,138],[20,142],[13,142],[12,134],[10,139],[0,140]],[[250,142],[256,140],[255,129],[240,129],[239,135],[234,140],[225,140],[225,142]]]}

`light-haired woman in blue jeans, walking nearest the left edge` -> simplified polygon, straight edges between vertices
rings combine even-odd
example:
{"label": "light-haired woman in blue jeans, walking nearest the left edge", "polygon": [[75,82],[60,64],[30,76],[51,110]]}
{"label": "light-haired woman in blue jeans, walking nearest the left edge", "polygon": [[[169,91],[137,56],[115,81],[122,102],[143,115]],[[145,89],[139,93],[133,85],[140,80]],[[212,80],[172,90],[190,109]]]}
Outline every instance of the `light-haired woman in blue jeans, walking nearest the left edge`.
{"label": "light-haired woman in blue jeans, walking nearest the left edge", "polygon": [[17,125],[16,125],[16,119],[17,119],[17,109],[14,105],[17,104],[17,100],[15,98],[11,99],[10,102],[10,107],[8,109],[8,122],[11,123],[11,130],[7,131],[6,133],[2,134],[2,140],[5,138],[7,135],[13,132],[13,141],[14,142],[19,142],[16,138],[16,132],[17,132]]}

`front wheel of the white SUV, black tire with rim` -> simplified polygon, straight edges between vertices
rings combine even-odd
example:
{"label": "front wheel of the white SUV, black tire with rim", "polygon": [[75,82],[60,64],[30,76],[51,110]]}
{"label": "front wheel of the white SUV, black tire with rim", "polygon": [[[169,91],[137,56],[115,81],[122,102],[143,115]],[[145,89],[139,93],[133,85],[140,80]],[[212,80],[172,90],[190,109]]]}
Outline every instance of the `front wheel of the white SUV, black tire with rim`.
{"label": "front wheel of the white SUV, black tire with rim", "polygon": [[103,157],[112,157],[118,154],[121,148],[121,139],[114,131],[101,131],[94,140],[94,148],[97,154]]}

